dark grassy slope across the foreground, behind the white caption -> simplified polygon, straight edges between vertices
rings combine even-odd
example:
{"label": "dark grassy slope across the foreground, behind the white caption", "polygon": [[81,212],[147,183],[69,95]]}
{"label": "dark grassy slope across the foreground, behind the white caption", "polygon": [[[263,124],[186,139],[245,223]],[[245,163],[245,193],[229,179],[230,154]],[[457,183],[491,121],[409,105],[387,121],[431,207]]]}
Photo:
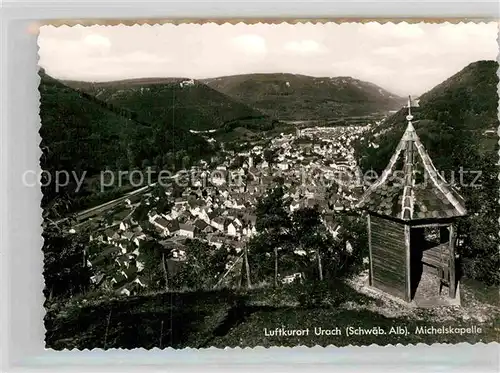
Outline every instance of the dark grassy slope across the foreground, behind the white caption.
{"label": "dark grassy slope across the foreground, behind the white caption", "polygon": [[[322,284],[325,285],[325,284]],[[391,306],[343,283],[279,289],[158,293],[113,300],[71,300],[49,307],[45,318],[49,348],[206,348],[256,346],[346,346],[396,343],[492,342],[498,334],[498,307],[482,322],[464,319],[454,309],[411,310],[384,315]],[[314,294],[311,294],[314,293]],[[305,301],[304,301],[305,300]],[[311,302],[312,301],[312,302]],[[475,315],[475,309],[468,311]],[[494,314],[492,314],[494,313]],[[481,334],[415,334],[417,326],[480,326]],[[391,332],[407,327],[407,336]],[[308,336],[269,337],[264,328],[310,329]],[[315,328],[338,327],[342,335],[316,335]],[[346,335],[347,327],[383,329],[385,334]]]}

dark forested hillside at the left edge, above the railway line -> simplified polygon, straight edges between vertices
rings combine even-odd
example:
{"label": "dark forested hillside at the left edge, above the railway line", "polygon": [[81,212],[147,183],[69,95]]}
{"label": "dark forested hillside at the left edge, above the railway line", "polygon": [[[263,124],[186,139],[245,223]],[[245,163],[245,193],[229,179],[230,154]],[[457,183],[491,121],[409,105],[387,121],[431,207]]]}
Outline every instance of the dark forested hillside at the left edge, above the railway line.
{"label": "dark forested hillside at the left edge, above the railway line", "polygon": [[[79,92],[43,71],[40,77],[41,167],[52,174],[66,170],[91,178],[106,169],[173,167],[213,151],[200,135],[181,126],[143,120],[130,108]],[[82,198],[91,193],[83,190],[73,196],[75,186],[70,183],[56,192],[49,185],[43,204],[62,194]]]}

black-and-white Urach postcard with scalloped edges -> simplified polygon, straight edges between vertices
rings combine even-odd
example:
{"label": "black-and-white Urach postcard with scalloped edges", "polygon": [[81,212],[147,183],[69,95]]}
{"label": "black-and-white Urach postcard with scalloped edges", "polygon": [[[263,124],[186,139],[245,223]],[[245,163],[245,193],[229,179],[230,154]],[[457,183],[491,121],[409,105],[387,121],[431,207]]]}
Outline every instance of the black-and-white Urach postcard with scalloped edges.
{"label": "black-and-white Urach postcard with scalloped edges", "polygon": [[46,347],[498,341],[497,30],[42,26]]}

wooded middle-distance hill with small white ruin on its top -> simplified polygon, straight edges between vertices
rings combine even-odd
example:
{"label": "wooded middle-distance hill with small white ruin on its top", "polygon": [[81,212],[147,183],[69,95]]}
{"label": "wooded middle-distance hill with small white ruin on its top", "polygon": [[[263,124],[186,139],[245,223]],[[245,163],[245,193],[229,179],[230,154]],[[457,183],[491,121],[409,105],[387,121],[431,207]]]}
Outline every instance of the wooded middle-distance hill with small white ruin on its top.
{"label": "wooded middle-distance hill with small white ruin on its top", "polygon": [[65,84],[132,110],[140,119],[185,130],[219,129],[228,122],[248,118],[270,122],[261,111],[194,79],[141,78],[99,83],[66,81]]}

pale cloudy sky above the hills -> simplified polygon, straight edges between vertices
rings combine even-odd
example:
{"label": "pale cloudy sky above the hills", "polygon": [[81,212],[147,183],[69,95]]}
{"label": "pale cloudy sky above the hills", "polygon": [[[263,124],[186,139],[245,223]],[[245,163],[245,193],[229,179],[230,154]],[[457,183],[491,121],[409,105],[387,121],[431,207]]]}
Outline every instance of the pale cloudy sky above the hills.
{"label": "pale cloudy sky above the hills", "polygon": [[352,76],[420,95],[469,63],[496,60],[497,23],[42,26],[39,64],[58,79]]}

